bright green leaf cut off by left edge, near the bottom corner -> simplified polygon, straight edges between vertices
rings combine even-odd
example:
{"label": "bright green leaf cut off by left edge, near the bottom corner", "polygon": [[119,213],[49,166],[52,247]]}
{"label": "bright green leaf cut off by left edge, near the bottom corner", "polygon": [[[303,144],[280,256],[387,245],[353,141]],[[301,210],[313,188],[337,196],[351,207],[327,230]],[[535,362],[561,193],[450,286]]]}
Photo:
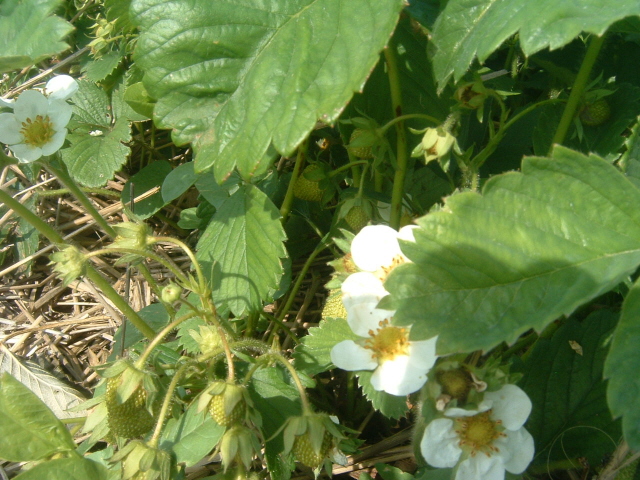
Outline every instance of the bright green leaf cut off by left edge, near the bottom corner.
{"label": "bright green leaf cut off by left edge, near the bottom corner", "polygon": [[5,373],[0,377],[0,458],[40,460],[75,449],[73,438],[35,394]]}

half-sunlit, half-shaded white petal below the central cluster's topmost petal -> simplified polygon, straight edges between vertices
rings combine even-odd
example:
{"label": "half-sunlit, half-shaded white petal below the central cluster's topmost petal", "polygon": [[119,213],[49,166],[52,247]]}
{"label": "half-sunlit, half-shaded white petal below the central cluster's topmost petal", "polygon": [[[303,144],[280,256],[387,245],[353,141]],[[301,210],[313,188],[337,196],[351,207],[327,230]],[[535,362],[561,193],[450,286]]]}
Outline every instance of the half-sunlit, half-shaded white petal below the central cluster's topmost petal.
{"label": "half-sunlit, half-shaded white petal below the central cluster's topmost petal", "polygon": [[380,322],[390,319],[394,312],[376,308],[378,302],[388,295],[380,279],[368,272],[353,273],[342,283],[342,303],[347,311],[347,322],[351,330],[361,337],[369,337]]}

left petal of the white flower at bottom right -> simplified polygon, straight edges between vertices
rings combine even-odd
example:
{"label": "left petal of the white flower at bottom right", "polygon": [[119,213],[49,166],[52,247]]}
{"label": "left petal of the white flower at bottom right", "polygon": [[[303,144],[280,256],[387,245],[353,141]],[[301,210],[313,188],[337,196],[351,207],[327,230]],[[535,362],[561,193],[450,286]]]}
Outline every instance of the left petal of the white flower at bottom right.
{"label": "left petal of the white flower at bottom right", "polygon": [[420,442],[420,452],[432,467],[455,467],[462,454],[459,441],[453,430],[453,420],[437,418],[427,425]]}

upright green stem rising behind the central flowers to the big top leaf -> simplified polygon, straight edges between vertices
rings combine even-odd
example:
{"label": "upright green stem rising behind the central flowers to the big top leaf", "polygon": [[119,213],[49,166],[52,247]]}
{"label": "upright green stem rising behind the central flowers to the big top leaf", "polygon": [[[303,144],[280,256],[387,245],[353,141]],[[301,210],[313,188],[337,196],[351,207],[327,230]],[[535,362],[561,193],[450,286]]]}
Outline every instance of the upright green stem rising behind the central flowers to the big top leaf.
{"label": "upright green stem rising behind the central flowers to the big top leaf", "polygon": [[[387,62],[389,85],[391,89],[391,103],[396,120],[402,117],[402,91],[400,88],[400,71],[396,58],[393,41],[384,49],[384,58]],[[396,173],[393,178],[393,191],[391,193],[391,218],[389,225],[398,230],[402,216],[402,197],[404,196],[404,180],[407,175],[407,138],[404,129],[404,120],[397,120],[396,126]]]}

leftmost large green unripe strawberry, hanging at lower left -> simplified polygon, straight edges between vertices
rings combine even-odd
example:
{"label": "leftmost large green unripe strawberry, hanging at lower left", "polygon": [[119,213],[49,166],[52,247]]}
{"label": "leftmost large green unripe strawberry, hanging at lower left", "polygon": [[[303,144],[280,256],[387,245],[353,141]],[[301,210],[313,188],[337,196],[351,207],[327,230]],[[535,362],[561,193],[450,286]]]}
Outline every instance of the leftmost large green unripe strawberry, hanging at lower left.
{"label": "leftmost large green unripe strawberry, hanging at lower left", "polygon": [[107,419],[111,432],[119,437],[135,438],[149,432],[155,419],[146,408],[147,392],[138,387],[124,403],[118,403],[119,377],[107,380]]}

